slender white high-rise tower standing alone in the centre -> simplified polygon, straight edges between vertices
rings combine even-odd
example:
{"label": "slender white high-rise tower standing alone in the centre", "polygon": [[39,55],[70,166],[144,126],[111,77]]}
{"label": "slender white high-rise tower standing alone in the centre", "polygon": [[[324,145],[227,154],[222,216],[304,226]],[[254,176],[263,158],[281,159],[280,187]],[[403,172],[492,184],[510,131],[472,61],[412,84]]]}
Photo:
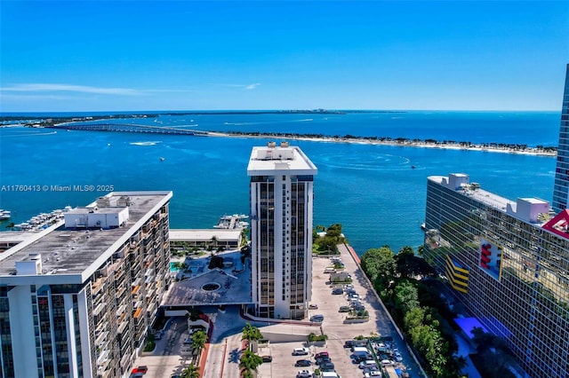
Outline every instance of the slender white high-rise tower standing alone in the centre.
{"label": "slender white high-rise tower standing alone in the centre", "polygon": [[312,292],[312,217],[317,167],[297,146],[253,147],[252,299],[260,317],[302,319]]}

